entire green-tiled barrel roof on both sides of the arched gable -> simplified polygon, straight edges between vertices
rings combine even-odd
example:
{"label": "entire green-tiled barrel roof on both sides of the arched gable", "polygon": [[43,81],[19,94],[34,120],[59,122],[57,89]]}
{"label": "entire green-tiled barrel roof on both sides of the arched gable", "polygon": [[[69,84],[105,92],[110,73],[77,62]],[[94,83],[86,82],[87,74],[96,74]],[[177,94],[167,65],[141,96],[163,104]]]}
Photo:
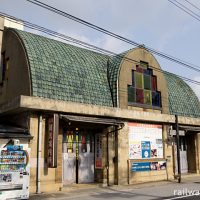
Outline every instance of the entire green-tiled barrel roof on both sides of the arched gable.
{"label": "entire green-tiled barrel roof on both sides of the arched gable", "polygon": [[[128,51],[108,57],[25,31],[12,31],[26,49],[33,96],[117,106],[117,80]],[[165,78],[170,113],[200,117],[200,103],[193,90],[173,74],[165,74]]]}

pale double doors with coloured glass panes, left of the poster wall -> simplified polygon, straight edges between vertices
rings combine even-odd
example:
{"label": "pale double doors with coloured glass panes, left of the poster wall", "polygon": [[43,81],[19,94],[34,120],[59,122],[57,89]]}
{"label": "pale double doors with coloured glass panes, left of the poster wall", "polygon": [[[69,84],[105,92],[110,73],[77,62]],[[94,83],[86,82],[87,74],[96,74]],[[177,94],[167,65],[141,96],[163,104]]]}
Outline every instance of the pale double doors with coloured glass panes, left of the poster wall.
{"label": "pale double doors with coloured glass panes, left of the poster wall", "polygon": [[94,133],[78,128],[64,132],[63,182],[94,182]]}

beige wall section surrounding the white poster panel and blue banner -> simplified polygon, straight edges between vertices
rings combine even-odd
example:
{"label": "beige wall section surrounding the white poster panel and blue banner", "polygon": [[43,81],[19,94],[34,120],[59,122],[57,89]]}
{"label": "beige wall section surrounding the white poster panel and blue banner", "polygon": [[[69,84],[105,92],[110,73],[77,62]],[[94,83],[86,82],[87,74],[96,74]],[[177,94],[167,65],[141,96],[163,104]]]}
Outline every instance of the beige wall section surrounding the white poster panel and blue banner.
{"label": "beige wall section surrounding the white poster panel and blue banner", "polygon": [[[149,181],[169,180],[173,179],[173,156],[172,156],[172,145],[167,142],[167,130],[168,126],[163,126],[163,159],[151,158],[151,159],[140,159],[130,160],[129,159],[129,131],[128,123],[125,127],[119,131],[119,184],[135,184]],[[167,162],[167,169],[160,171],[147,171],[147,172],[131,172],[131,164],[133,162]]]}

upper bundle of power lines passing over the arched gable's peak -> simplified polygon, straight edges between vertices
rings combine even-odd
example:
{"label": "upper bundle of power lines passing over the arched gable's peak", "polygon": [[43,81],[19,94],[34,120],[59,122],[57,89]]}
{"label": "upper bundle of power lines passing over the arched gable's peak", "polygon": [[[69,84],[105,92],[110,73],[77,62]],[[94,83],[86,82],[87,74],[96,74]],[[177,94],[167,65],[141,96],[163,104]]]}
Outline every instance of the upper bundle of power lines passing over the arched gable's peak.
{"label": "upper bundle of power lines passing over the arched gable's peak", "polygon": [[[94,29],[94,30],[97,30],[97,31],[99,31],[99,32],[102,32],[102,33],[104,33],[104,34],[106,34],[106,35],[109,35],[109,36],[111,36],[111,37],[114,37],[114,38],[116,38],[116,39],[119,39],[119,40],[121,40],[121,41],[123,41],[123,42],[126,42],[126,43],[128,43],[128,44],[134,45],[134,46],[136,46],[136,47],[142,46],[141,44],[139,44],[139,43],[137,43],[137,42],[135,42],[135,41],[132,41],[132,40],[130,40],[130,39],[127,39],[127,38],[125,38],[125,37],[123,37],[123,36],[120,36],[120,35],[118,35],[118,34],[115,34],[115,33],[111,32],[111,31],[108,31],[108,30],[106,30],[106,29],[104,29],[104,28],[101,28],[101,27],[95,25],[95,24],[92,24],[92,23],[87,22],[87,21],[85,21],[85,20],[83,20],[83,19],[80,19],[80,18],[78,18],[78,17],[75,17],[75,16],[73,16],[73,15],[71,15],[71,14],[69,14],[69,13],[66,13],[66,12],[64,12],[64,11],[61,11],[61,10],[55,8],[55,7],[52,7],[52,6],[47,5],[47,4],[45,4],[45,3],[42,3],[42,2],[40,2],[40,1],[38,1],[38,0],[26,0],[26,1],[28,1],[28,2],[30,2],[30,3],[33,3],[33,4],[35,4],[35,5],[39,6],[39,7],[45,8],[45,9],[47,9],[47,10],[49,10],[49,11],[52,11],[52,12],[54,12],[54,13],[56,13],[56,14],[62,15],[62,16],[64,16],[64,17],[68,18],[68,19],[71,19],[71,20],[73,20],[73,21],[76,21],[76,22],[78,22],[78,23],[80,23],[80,24],[82,24],[82,25],[85,25],[85,26],[87,26],[87,27],[90,27],[90,28],[92,28],[92,29]],[[179,65],[182,65],[182,66],[187,67],[187,68],[189,68],[189,69],[192,69],[192,70],[194,70],[194,71],[200,72],[200,67],[197,66],[197,65],[190,64],[190,63],[188,63],[188,62],[186,62],[186,61],[183,61],[183,60],[181,60],[181,59],[178,59],[178,58],[175,58],[175,57],[173,57],[173,56],[167,55],[166,53],[157,51],[157,50],[155,50],[155,49],[153,49],[153,48],[150,48],[150,47],[147,47],[147,46],[145,46],[145,48],[146,48],[149,52],[151,52],[151,53],[153,53],[153,54],[156,54],[156,55],[158,55],[158,56],[160,56],[160,57],[162,57],[162,58],[168,59],[168,60],[170,60],[170,61],[172,61],[172,62],[175,62],[175,63],[177,63],[177,64],[179,64]]]}

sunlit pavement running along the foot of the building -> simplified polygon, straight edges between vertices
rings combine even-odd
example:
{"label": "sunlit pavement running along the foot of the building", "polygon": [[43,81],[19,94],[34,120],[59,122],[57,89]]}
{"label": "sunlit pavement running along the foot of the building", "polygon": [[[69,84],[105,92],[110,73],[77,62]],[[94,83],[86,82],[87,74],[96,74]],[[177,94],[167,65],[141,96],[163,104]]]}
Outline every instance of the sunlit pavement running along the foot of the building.
{"label": "sunlit pavement running along the foot of the building", "polygon": [[102,187],[97,184],[78,184],[64,187],[62,191],[55,193],[31,194],[30,200],[64,200],[64,199],[166,199],[174,197],[174,191],[190,191],[200,189],[200,175],[184,175],[182,182],[159,181],[134,185],[114,185]]}

